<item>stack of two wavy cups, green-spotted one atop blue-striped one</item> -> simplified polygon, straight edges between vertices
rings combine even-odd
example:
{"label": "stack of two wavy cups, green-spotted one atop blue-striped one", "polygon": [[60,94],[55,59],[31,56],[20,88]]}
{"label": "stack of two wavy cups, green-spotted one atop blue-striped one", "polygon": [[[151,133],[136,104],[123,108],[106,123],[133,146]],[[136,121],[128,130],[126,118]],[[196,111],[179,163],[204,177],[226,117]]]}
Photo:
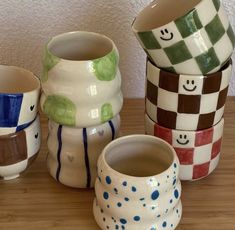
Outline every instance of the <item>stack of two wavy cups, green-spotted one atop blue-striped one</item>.
{"label": "stack of two wavy cups, green-spotted one atop blue-striped one", "polygon": [[94,186],[97,159],[119,132],[123,104],[119,54],[91,32],[52,38],[44,50],[42,111],[49,118],[47,165],[60,183]]}

